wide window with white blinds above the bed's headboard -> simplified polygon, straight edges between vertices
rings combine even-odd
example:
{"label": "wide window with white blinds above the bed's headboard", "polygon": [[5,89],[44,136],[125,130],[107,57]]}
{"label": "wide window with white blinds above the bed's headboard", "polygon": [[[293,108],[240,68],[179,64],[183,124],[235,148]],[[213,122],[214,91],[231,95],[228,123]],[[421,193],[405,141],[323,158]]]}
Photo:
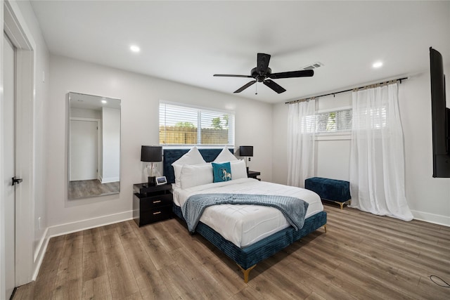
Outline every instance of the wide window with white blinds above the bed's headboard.
{"label": "wide window with white blinds above the bed's headboard", "polygon": [[160,102],[160,145],[234,146],[234,113]]}

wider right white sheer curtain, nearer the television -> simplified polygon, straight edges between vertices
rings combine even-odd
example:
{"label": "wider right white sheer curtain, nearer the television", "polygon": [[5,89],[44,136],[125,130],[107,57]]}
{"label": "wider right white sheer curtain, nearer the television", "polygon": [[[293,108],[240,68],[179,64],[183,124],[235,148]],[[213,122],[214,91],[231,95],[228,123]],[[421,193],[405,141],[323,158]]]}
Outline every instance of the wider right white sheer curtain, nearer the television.
{"label": "wider right white sheer curtain, nearer the television", "polygon": [[397,83],[354,91],[352,98],[352,207],[411,221]]}

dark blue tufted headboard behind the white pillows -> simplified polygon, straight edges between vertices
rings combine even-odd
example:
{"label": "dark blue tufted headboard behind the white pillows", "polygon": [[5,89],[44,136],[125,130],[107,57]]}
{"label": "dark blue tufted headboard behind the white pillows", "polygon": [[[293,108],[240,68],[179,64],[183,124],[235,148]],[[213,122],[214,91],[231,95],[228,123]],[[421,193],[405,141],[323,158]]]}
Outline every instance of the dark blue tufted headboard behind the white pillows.
{"label": "dark blue tufted headboard behind the white pillows", "polygon": [[[162,153],[164,155],[162,159],[162,171],[164,176],[167,178],[167,183],[175,183],[174,167],[172,164],[178,160],[180,157],[185,155],[191,149],[163,149]],[[217,155],[221,152],[221,148],[217,149],[198,149],[200,154],[205,159],[205,162],[212,162],[216,159]],[[229,149],[233,153],[233,149]]]}

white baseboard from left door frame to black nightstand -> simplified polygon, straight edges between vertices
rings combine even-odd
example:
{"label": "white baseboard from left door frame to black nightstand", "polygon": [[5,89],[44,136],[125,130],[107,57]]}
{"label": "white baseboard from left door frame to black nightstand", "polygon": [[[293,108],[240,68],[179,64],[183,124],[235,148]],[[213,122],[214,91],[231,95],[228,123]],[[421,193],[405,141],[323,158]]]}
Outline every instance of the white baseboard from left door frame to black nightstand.
{"label": "white baseboard from left door frame to black nightstand", "polygon": [[34,272],[32,280],[36,280],[37,275],[39,274],[39,268],[41,268],[41,263],[44,260],[44,254],[46,252],[47,246],[49,245],[49,240],[51,237],[66,235],[68,233],[76,233],[77,231],[96,228],[123,221],[129,221],[131,219],[133,219],[133,211],[124,211],[119,214],[99,216],[94,219],[86,219],[46,228],[45,233],[41,238],[41,241],[39,242],[39,246],[37,247],[36,252],[34,252]]}

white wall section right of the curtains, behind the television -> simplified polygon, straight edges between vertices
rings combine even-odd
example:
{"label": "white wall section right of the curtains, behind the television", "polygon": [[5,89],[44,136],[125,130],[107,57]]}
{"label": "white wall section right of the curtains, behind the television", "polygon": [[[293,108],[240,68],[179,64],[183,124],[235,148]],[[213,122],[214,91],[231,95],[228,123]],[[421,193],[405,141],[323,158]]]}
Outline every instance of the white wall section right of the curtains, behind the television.
{"label": "white wall section right of the curtains, behind the television", "polygon": [[[444,67],[450,74],[450,65]],[[416,219],[450,226],[450,178],[432,178],[430,73],[400,85],[400,114],[406,159],[406,200]],[[450,84],[446,82],[447,107]]]}

